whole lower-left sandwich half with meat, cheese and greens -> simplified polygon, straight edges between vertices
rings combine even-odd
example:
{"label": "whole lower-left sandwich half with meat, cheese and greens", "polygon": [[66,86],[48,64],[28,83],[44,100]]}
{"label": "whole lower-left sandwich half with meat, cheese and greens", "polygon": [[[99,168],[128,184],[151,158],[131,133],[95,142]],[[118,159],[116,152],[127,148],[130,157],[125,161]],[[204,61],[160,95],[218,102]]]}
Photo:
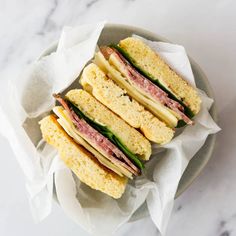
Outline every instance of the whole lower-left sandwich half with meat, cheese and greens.
{"label": "whole lower-left sandwich half with meat, cheese and greens", "polygon": [[150,158],[150,142],[84,90],[54,97],[60,105],[40,121],[44,140],[82,182],[120,198]]}

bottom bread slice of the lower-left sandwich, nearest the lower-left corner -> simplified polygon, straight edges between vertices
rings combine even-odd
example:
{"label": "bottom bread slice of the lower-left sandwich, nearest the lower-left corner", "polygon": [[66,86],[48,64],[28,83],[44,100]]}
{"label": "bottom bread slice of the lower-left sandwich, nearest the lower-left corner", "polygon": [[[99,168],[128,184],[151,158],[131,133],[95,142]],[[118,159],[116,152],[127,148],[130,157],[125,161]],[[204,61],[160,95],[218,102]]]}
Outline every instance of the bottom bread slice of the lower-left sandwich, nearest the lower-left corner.
{"label": "bottom bread slice of the lower-left sandwich, nearest the lower-left corner", "polygon": [[76,144],[58,124],[54,115],[43,118],[40,129],[43,139],[58,150],[61,159],[81,182],[113,198],[122,196],[127,178],[108,170],[92,154]]}

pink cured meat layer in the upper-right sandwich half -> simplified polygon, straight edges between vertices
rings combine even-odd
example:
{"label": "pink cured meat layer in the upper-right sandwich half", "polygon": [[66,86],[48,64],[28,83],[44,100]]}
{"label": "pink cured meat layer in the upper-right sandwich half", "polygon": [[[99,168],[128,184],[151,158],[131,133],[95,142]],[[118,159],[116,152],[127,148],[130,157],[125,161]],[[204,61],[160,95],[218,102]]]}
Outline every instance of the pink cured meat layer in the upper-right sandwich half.
{"label": "pink cured meat layer in the upper-right sandwich half", "polygon": [[193,124],[193,121],[184,114],[184,107],[178,101],[171,99],[168,93],[154,84],[151,80],[144,77],[135,67],[114,47],[101,47],[101,53],[109,60],[113,57],[119,65],[120,72],[127,78],[128,82],[139,88],[139,91],[151,97],[152,100],[168,107],[174,114],[186,124]]}

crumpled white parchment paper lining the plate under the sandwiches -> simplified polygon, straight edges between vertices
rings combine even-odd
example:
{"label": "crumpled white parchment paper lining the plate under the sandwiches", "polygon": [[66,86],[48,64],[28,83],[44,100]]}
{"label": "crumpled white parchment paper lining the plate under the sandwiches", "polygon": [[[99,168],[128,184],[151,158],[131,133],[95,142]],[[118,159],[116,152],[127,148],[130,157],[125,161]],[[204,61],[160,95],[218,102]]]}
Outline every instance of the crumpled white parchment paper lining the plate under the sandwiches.
{"label": "crumpled white parchment paper lining the plate under the sandwiches", "polygon": [[[208,113],[213,100],[204,92],[199,91],[203,102],[195,124],[184,128],[163,148],[153,145],[152,159],[144,174],[129,182],[119,200],[80,183],[57,152],[41,140],[38,121],[53,107],[52,93],[63,91],[79,76],[93,57],[104,24],[64,28],[55,53],[35,61],[18,78],[3,84],[0,131],[10,142],[25,174],[36,221],[50,214],[55,183],[56,196],[64,212],[91,234],[111,235],[146,201],[153,222],[164,235],[183,171],[207,136],[220,130]],[[182,46],[141,39],[195,85]]]}

